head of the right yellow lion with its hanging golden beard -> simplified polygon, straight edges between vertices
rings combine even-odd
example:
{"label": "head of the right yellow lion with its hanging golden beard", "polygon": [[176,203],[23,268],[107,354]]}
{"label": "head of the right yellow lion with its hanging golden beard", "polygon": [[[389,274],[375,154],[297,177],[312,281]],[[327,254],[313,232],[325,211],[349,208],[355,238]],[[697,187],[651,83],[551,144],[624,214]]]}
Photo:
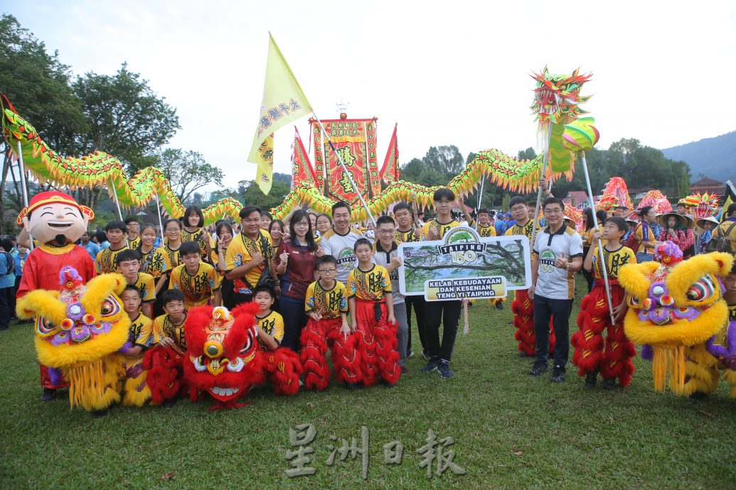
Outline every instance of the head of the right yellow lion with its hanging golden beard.
{"label": "head of the right yellow lion with its hanging golden beard", "polygon": [[[723,301],[719,276],[729,273],[729,253],[707,253],[682,261],[676,245],[657,247],[662,261],[629,264],[618,280],[626,289],[629,312],[624,320],[626,336],[638,345],[654,349],[654,386],[664,389],[667,361],[674,385],[684,384],[684,347],[706,342],[726,325],[729,309]],[[657,367],[659,364],[659,367]]]}

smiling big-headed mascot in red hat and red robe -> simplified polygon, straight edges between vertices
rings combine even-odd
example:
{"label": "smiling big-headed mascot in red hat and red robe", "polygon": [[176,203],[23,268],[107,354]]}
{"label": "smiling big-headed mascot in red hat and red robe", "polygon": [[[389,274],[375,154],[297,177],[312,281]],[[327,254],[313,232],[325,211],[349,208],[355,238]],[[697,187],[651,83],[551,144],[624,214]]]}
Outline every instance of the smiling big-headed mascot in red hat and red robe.
{"label": "smiling big-headed mascot in red hat and red robe", "polygon": [[[63,192],[40,192],[31,199],[28,207],[18,215],[18,226],[23,226],[20,241],[31,234],[38,240],[23,269],[17,298],[20,300],[36,289],[61,291],[59,274],[63,267],[73,267],[82,284],[95,274],[94,262],[89,253],[74,245],[87,230],[94,213],[87,206],[80,206],[71,195]],[[18,310],[18,317],[23,314]],[[49,369],[41,361],[40,381],[43,386],[41,400],[54,399],[56,389],[69,386],[59,370]]]}

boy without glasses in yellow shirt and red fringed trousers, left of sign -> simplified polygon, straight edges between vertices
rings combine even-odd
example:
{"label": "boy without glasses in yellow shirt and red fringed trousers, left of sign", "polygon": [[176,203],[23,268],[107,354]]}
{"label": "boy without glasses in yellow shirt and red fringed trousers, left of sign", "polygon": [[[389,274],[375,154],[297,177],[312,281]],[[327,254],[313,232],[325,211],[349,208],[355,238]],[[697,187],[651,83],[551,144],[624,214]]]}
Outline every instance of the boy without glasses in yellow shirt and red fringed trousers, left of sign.
{"label": "boy without glasses in yellow shirt and red fringed trousers, left of sign", "polygon": [[373,246],[368,239],[358,239],[353,250],[358,267],[347,276],[347,306],[350,331],[358,334],[363,384],[371,386],[383,378],[388,386],[394,386],[401,370],[389,273],[371,261]]}

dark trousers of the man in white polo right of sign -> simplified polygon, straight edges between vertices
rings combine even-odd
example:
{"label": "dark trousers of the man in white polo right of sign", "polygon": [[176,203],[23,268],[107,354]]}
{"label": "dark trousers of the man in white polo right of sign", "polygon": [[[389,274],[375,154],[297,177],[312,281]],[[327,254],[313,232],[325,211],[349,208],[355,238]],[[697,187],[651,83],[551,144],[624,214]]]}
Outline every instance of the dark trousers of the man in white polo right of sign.
{"label": "dark trousers of the man in white polo right of sign", "polygon": [[549,358],[551,318],[555,335],[554,365],[564,368],[567,364],[567,356],[570,354],[570,310],[572,306],[571,300],[553,300],[534,295],[534,336],[537,337],[534,353],[537,356],[537,362],[546,363]]}

